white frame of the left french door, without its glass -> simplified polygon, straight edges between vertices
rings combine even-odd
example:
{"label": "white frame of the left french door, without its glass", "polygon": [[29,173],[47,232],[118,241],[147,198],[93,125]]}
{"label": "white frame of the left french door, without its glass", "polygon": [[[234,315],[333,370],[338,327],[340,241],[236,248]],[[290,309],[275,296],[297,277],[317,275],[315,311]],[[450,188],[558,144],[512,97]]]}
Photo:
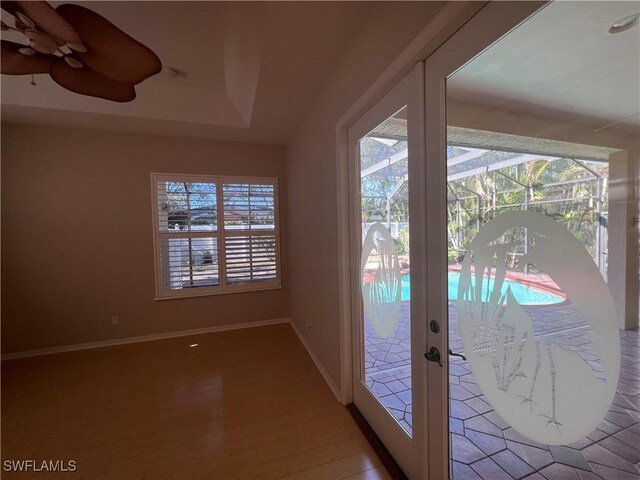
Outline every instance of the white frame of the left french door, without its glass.
{"label": "white frame of the left french door, without its glass", "polygon": [[[421,478],[426,471],[426,458],[420,452],[426,450],[426,414],[425,406],[415,399],[422,398],[425,393],[424,382],[424,358],[422,350],[425,345],[426,331],[424,322],[415,322],[415,318],[424,318],[425,302],[424,289],[421,280],[424,278],[424,255],[420,255],[421,249],[414,248],[424,245],[424,235],[420,232],[420,218],[424,218],[424,202],[421,201],[421,192],[424,192],[424,148],[422,144],[421,118],[423,102],[421,102],[422,64],[418,64],[414,71],[410,72],[398,85],[387,93],[367,113],[355,122],[348,131],[349,143],[349,185],[351,194],[350,230],[351,230],[351,308],[352,313],[352,387],[353,403],[356,404],[367,422],[377,433],[387,450],[393,455],[403,471],[411,478]],[[407,435],[402,426],[389,414],[378,401],[369,388],[360,381],[360,372],[364,370],[362,355],[364,352],[364,338],[362,330],[362,301],[360,284],[362,273],[360,271],[360,255],[362,250],[362,218],[360,196],[361,178],[359,168],[359,140],[366,136],[380,123],[402,108],[407,108],[408,119],[408,171],[409,171],[409,218],[411,239],[411,270],[415,271],[411,280],[411,365],[412,365],[412,396],[414,399],[412,435]],[[415,195],[414,195],[415,192]],[[413,222],[411,219],[418,219]],[[423,249],[424,250],[424,249]],[[416,252],[414,254],[413,252]],[[422,257],[422,258],[420,258]],[[420,292],[422,290],[422,292]],[[421,294],[422,293],[422,294]],[[422,300],[422,301],[421,301]],[[425,460],[425,461],[422,461]]]}

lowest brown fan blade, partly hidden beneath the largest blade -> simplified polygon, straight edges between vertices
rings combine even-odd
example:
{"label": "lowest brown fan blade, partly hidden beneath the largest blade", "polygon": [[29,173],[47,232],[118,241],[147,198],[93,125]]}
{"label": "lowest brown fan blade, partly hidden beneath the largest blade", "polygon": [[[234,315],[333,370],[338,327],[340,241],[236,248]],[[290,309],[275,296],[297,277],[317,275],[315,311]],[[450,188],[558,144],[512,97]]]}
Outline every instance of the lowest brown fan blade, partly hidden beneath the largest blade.
{"label": "lowest brown fan blade, partly hidden beneath the largest blade", "polygon": [[133,85],[116,82],[88,68],[73,68],[58,59],[51,66],[51,78],[61,87],[82,95],[114,102],[130,102],[136,98]]}

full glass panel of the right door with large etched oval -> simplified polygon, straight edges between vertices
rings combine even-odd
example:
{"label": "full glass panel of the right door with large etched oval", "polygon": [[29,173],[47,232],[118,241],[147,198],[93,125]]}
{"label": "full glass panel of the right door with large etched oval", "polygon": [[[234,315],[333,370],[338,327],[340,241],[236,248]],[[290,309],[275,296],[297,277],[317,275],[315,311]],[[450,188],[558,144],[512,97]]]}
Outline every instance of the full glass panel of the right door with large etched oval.
{"label": "full glass panel of the right door with large etched oval", "polygon": [[551,3],[447,80],[454,480],[640,478],[637,6]]}

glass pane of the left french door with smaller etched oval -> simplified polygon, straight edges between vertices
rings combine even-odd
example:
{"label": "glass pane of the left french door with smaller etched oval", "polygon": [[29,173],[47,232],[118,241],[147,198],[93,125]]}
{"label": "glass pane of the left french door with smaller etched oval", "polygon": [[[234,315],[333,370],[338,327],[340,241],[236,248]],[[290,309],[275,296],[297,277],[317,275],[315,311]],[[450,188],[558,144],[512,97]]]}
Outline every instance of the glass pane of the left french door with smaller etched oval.
{"label": "glass pane of the left french door with smaller etched oval", "polygon": [[358,141],[363,333],[360,380],[411,435],[407,108]]}

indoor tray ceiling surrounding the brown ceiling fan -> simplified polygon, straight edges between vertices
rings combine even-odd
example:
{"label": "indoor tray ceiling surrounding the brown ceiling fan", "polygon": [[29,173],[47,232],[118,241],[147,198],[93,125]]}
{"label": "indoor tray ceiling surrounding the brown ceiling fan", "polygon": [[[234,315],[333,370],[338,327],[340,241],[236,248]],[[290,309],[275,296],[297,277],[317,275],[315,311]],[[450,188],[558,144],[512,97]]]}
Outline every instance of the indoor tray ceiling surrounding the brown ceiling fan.
{"label": "indoor tray ceiling surrounding the brown ceiling fan", "polygon": [[[46,74],[36,76],[36,86],[28,76],[3,75],[3,120],[284,144],[376,8],[369,2],[84,5],[186,75],[151,77],[125,104],[71,93]],[[4,11],[2,18],[12,23]]]}

